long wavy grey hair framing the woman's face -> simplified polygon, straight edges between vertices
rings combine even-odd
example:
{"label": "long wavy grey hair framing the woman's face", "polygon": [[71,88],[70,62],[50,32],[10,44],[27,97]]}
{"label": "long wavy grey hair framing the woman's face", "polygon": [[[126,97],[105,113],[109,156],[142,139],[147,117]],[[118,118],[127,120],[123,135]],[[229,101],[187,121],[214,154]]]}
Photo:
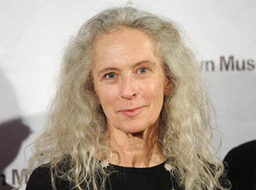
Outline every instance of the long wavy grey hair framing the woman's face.
{"label": "long wavy grey hair framing the woman's face", "polygon": [[220,184],[224,166],[211,148],[215,132],[210,124],[208,93],[194,54],[174,22],[131,7],[100,12],[71,39],[46,129],[34,144],[27,172],[50,162],[46,166],[51,167],[54,189],[56,178],[70,180],[78,189],[82,184],[88,189],[104,188],[109,174],[101,168],[100,160],[109,159],[111,149],[106,116],[93,91],[92,49],[96,37],[119,27],[151,36],[166,75],[173,80],[172,91],[164,97],[159,142],[179,172],[180,185],[195,190],[225,189]]}

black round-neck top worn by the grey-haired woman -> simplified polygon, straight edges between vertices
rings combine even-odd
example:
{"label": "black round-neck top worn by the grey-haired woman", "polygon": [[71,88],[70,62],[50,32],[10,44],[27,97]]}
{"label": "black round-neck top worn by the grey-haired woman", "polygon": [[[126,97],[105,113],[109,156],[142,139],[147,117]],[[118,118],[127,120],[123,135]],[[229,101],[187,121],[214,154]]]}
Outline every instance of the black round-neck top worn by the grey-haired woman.
{"label": "black round-neck top worn by the grey-haired woman", "polygon": [[[166,169],[166,162],[150,168],[131,168],[109,164],[108,170],[115,170],[106,181],[106,189],[110,190],[181,190],[177,180]],[[167,167],[168,168],[168,167]],[[68,181],[56,180],[57,189],[68,190],[72,186]],[[26,190],[52,190],[50,168],[38,167],[31,174]],[[84,188],[86,189],[86,188]]]}

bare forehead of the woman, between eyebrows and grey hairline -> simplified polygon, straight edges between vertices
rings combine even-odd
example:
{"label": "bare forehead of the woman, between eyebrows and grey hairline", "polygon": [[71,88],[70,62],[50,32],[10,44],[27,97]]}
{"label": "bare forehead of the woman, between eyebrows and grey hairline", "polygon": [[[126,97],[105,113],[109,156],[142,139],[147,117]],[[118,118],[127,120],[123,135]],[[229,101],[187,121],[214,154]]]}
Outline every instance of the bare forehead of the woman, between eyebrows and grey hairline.
{"label": "bare forehead of the woman, between eyebrows and grey hairline", "polygon": [[159,59],[156,43],[144,31],[131,28],[113,29],[94,41],[93,67],[101,65],[133,64]]}

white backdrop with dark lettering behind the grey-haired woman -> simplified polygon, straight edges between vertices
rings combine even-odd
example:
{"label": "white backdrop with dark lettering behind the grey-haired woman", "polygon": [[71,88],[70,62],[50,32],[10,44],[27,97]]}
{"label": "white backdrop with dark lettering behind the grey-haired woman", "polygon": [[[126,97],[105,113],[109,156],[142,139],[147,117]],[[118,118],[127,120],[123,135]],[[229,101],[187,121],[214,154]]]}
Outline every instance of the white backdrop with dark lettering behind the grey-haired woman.
{"label": "white backdrop with dark lettering behind the grey-haired woman", "polygon": [[[256,138],[256,1],[131,1],[186,31],[222,134],[218,154]],[[0,1],[1,173],[17,186],[42,130],[70,36],[100,10],[126,1]],[[25,158],[25,154],[26,158]],[[7,188],[6,188],[7,189]]]}

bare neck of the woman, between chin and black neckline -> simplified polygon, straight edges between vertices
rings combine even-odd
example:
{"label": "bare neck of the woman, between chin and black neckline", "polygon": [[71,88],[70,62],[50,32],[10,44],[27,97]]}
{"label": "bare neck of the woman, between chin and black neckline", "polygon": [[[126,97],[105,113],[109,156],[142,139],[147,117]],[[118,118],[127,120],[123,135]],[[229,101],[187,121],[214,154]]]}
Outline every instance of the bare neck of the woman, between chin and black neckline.
{"label": "bare neck of the woman, between chin and black neckline", "polygon": [[159,145],[158,123],[138,132],[125,132],[108,125],[107,135],[112,156],[109,162],[125,167],[152,167],[166,160]]}

